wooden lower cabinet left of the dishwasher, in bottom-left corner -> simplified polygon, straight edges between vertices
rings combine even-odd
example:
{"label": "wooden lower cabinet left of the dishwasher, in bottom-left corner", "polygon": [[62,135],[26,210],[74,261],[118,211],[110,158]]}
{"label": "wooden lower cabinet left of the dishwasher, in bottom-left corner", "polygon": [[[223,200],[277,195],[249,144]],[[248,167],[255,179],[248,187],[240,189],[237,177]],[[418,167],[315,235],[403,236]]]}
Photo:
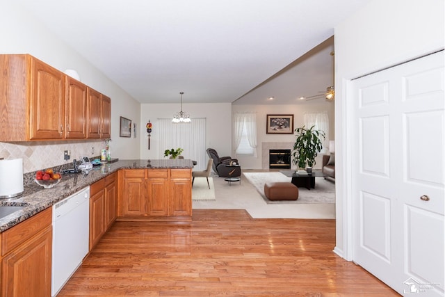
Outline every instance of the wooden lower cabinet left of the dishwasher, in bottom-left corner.
{"label": "wooden lower cabinet left of the dishwasher, in bottom-left corner", "polygon": [[52,208],[1,233],[1,296],[51,296]]}

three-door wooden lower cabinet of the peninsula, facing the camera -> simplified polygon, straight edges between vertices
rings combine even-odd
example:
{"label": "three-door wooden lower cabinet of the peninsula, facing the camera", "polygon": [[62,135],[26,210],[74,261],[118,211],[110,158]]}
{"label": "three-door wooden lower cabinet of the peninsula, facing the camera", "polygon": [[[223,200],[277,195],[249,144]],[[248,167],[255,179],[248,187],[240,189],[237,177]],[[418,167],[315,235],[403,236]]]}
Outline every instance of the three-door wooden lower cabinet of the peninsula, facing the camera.
{"label": "three-door wooden lower cabinet of the peninsula, facing the camera", "polygon": [[119,174],[119,219],[191,219],[191,169],[124,169]]}

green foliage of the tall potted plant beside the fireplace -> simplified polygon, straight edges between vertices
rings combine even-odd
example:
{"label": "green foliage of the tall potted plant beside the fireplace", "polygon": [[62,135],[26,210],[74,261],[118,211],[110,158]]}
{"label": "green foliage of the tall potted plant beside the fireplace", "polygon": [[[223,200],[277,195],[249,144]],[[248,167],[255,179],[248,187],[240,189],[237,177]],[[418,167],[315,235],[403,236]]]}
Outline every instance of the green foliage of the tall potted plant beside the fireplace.
{"label": "green foliage of the tall potted plant beside the fireplace", "polygon": [[293,144],[293,164],[298,168],[306,168],[308,173],[312,173],[315,158],[321,151],[325,140],[325,132],[315,130],[314,127],[307,129],[303,126],[295,129],[297,138]]}

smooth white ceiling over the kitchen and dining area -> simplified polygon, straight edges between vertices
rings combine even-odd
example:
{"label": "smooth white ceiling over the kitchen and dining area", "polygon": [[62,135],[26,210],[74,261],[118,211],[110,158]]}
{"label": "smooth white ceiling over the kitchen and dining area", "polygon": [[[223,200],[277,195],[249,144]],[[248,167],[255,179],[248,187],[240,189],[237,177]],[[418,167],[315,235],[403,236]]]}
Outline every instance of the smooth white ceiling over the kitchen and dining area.
{"label": "smooth white ceiling over the kitchen and dining area", "polygon": [[[184,103],[251,104],[250,90],[300,64],[369,0],[16,1],[138,102],[177,103],[184,92]],[[292,74],[296,97],[325,90],[314,77],[332,75],[326,52]],[[265,96],[280,97],[255,98]]]}

